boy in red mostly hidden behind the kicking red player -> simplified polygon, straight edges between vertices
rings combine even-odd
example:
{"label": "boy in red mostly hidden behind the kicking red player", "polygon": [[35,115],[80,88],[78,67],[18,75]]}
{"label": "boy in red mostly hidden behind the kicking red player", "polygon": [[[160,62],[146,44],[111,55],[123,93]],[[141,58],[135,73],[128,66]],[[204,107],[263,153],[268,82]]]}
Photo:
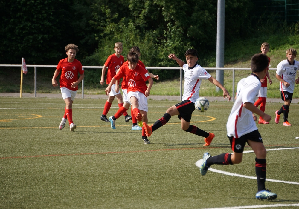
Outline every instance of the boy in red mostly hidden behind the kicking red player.
{"label": "boy in red mostly hidden behind the kicking red player", "polygon": [[[140,57],[140,49],[139,49],[139,47],[137,47],[137,46],[132,47],[130,49],[130,52],[134,52],[134,53],[136,53],[138,55],[138,57]],[[127,65],[127,64],[128,64],[128,61],[126,61],[124,63],[124,65]],[[143,62],[141,62],[140,59],[138,60],[138,64],[141,65],[142,67],[144,67],[144,69],[147,71],[145,65],[143,64]],[[119,69],[118,69],[118,71],[119,71]],[[158,75],[154,75],[154,74],[149,73],[149,72],[148,72],[148,74],[149,74],[149,76],[151,78],[155,78],[155,79],[159,80],[159,76]],[[123,77],[123,81],[121,82],[121,90],[123,92],[123,106],[118,109],[118,111],[115,113],[115,115],[113,115],[113,116],[111,116],[109,118],[110,122],[112,120],[114,121],[111,124],[111,128],[112,129],[115,129],[115,120],[118,119],[130,107],[130,102],[129,102],[129,98],[128,98],[128,92],[127,92],[127,90],[128,90],[128,82],[126,80],[126,77]],[[133,123],[131,130],[142,130],[142,128],[137,123],[136,117],[134,117],[134,113],[133,113],[133,108],[132,107],[131,107],[131,115],[132,115],[132,123]]]}

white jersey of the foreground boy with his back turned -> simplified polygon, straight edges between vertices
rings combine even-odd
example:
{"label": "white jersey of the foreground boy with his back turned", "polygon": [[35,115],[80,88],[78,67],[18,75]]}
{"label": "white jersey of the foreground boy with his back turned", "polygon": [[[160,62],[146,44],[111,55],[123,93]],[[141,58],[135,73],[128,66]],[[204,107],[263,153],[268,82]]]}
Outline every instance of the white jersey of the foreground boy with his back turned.
{"label": "white jersey of the foreground boy with his back turned", "polygon": [[245,102],[254,104],[254,100],[257,98],[260,87],[260,79],[254,74],[239,81],[236,92],[237,98],[226,123],[228,136],[240,138],[246,133],[257,130],[257,125],[252,117],[252,112],[243,107],[243,104]]}

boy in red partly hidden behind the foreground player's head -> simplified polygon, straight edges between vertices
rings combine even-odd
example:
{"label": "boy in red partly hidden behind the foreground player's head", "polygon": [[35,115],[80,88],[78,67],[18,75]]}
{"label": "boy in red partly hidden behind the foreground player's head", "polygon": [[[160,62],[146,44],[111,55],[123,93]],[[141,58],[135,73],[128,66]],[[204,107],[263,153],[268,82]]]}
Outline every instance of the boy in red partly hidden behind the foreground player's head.
{"label": "boy in red partly hidden behind the foreground player's head", "polygon": [[[266,54],[269,52],[270,50],[270,46],[267,42],[262,43],[261,46],[261,52],[262,54]],[[261,83],[262,83],[262,87],[260,88],[259,91],[259,95],[258,95],[258,100],[255,101],[254,106],[258,107],[260,106],[260,110],[262,110],[263,112],[265,112],[265,106],[266,106],[266,98],[267,98],[267,78],[269,80],[269,84],[272,84],[272,80],[270,79],[270,75],[269,75],[269,64],[270,64],[270,57],[268,57],[269,59],[269,63],[268,63],[268,68],[267,68],[267,74],[265,76],[265,78],[261,79]],[[254,120],[257,120],[257,116],[254,115]],[[269,122],[266,122],[261,116],[259,119],[259,124],[269,124]]]}

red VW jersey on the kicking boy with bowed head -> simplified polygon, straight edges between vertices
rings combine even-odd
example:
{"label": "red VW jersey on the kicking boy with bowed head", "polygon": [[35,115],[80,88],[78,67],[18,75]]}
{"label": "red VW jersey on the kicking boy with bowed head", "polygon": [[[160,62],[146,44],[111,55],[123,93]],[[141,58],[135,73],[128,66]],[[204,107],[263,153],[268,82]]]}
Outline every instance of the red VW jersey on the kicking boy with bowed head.
{"label": "red VW jersey on the kicking boy with bowed head", "polygon": [[122,65],[114,78],[118,80],[122,77],[125,77],[125,79],[127,80],[128,93],[130,91],[139,91],[144,94],[147,90],[145,81],[147,81],[150,76],[147,70],[141,65],[137,64],[134,70],[130,70],[128,64]]}

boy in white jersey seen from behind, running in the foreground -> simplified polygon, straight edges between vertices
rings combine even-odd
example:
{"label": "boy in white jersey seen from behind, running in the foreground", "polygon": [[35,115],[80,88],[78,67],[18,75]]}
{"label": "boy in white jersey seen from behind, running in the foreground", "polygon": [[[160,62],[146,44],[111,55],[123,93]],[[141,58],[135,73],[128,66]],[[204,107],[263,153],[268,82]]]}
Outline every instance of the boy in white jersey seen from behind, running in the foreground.
{"label": "boy in white jersey seen from behind, running in the foreground", "polygon": [[251,58],[251,75],[239,81],[236,92],[236,100],[226,124],[227,136],[231,143],[232,154],[223,153],[211,157],[209,153],[203,155],[195,164],[200,168],[200,173],[205,175],[213,164],[233,165],[242,161],[243,150],[246,142],[254,151],[255,173],[257,175],[257,199],[275,199],[277,194],[266,190],[266,149],[262,137],[257,130],[252,113],[260,115],[266,122],[271,116],[254,106],[254,100],[261,87],[260,79],[267,73],[269,59],[265,54],[255,54]]}

